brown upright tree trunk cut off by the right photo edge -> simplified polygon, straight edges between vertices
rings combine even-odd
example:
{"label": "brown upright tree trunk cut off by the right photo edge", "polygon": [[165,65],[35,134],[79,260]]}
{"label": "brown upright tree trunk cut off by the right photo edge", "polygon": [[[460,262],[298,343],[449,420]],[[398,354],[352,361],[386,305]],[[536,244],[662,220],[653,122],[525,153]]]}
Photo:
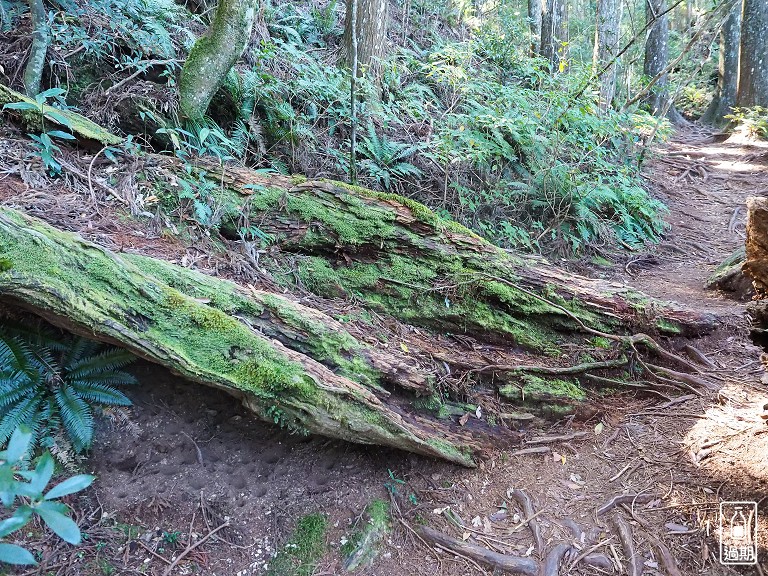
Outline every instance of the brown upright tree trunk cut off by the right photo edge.
{"label": "brown upright tree trunk cut off by the right photo edge", "polygon": [[737,104],[768,106],[768,2],[744,0]]}

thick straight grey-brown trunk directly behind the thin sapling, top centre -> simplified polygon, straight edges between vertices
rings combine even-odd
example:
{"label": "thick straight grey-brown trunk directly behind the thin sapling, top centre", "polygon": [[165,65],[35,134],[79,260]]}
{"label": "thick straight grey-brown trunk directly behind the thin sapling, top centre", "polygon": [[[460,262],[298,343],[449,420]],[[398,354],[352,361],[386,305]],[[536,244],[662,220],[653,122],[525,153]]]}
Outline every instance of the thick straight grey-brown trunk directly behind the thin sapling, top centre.
{"label": "thick straight grey-brown trunk directly behind the thin sapling, top centre", "polygon": [[[352,0],[347,1],[344,46],[347,64],[352,67]],[[387,53],[387,1],[357,0],[357,65],[358,76],[379,78],[379,60]]]}

